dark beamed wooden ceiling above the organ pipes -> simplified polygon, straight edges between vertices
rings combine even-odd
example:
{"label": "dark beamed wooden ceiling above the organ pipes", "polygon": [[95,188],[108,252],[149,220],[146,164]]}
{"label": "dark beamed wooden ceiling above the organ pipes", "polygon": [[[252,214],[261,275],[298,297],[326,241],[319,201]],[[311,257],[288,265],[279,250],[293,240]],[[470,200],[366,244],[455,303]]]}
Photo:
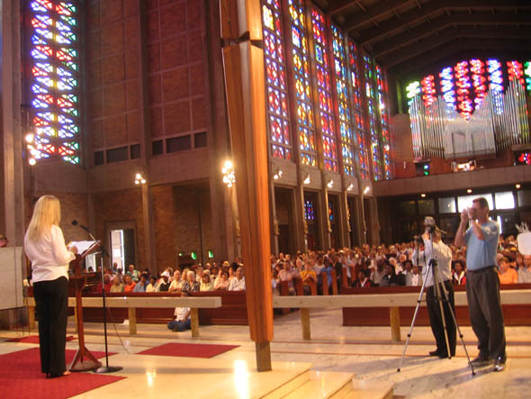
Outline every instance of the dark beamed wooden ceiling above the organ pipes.
{"label": "dark beamed wooden ceiling above the organ pipes", "polygon": [[531,0],[314,2],[399,79],[464,52],[531,58]]}

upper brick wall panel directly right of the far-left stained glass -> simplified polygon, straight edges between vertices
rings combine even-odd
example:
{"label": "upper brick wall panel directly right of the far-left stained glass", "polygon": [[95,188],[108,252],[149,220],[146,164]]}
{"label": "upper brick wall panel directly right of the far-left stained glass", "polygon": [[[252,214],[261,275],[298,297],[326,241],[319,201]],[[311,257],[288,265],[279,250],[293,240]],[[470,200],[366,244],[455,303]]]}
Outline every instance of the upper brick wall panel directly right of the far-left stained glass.
{"label": "upper brick wall panel directly right of the far-left stained glass", "polygon": [[[88,4],[89,131],[94,150],[140,141],[138,25],[137,0]],[[93,159],[88,161],[91,165]]]}

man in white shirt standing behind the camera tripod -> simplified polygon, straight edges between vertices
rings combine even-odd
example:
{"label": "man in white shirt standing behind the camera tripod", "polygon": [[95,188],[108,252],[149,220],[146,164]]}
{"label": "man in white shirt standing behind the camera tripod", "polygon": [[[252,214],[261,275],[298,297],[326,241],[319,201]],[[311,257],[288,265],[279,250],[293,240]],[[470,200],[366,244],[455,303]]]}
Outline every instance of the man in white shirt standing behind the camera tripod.
{"label": "man in white shirt standing behind the camera tripod", "polygon": [[[432,232],[433,238],[433,252],[432,243],[429,240],[429,231]],[[454,304],[454,286],[452,285],[452,250],[441,240],[440,232],[434,224],[426,223],[426,231],[421,236],[424,241],[424,250],[420,251],[419,258],[424,259],[425,265],[422,268],[422,277],[426,281],[428,287],[426,293],[426,305],[428,307],[429,323],[431,324],[431,331],[437,342],[437,349],[429,352],[429,356],[438,356],[439,358],[447,358],[448,351],[446,349],[445,329],[441,317],[441,308],[436,299],[436,292],[434,289],[433,270],[429,268],[431,259],[437,260],[438,277],[439,277],[439,291],[444,299],[444,289],[446,288],[447,300],[452,306],[452,311],[455,314]],[[419,245],[419,240],[415,240],[415,248]],[[413,254],[413,263],[419,264],[416,250]],[[429,272],[428,272],[429,270]],[[443,302],[443,309],[445,312],[446,331],[448,333],[448,344],[450,347],[450,355],[455,356],[455,322],[450,312],[450,307],[446,301]]]}

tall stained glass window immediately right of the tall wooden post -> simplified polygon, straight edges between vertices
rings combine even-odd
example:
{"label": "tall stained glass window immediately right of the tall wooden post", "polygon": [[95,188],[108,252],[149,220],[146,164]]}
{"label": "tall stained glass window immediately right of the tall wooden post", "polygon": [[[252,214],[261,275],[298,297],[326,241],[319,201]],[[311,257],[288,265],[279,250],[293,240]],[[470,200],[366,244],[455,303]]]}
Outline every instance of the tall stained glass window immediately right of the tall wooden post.
{"label": "tall stained glass window immediately right of the tall wooden post", "polygon": [[275,158],[292,159],[284,39],[280,0],[263,0],[262,25],[266,61],[267,122],[271,154]]}

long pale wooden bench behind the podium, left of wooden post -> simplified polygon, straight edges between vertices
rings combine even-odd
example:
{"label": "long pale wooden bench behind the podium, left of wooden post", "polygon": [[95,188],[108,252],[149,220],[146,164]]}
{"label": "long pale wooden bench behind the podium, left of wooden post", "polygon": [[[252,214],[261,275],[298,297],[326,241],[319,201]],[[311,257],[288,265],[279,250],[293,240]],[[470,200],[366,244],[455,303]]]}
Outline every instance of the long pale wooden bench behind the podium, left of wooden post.
{"label": "long pale wooden bench behind the podium, left of wooden post", "polygon": [[[26,305],[30,309],[30,328],[35,328],[35,299],[31,296],[24,298]],[[85,308],[103,308],[103,299],[101,297],[84,297],[83,307]],[[105,304],[108,308],[127,308],[129,314],[129,332],[130,335],[137,333],[137,308],[175,308],[189,307],[192,327],[192,337],[199,337],[199,313],[200,308],[218,308],[221,307],[221,298],[219,296],[112,296],[105,298]],[[68,306],[74,306],[76,309],[76,298],[68,298]]]}

